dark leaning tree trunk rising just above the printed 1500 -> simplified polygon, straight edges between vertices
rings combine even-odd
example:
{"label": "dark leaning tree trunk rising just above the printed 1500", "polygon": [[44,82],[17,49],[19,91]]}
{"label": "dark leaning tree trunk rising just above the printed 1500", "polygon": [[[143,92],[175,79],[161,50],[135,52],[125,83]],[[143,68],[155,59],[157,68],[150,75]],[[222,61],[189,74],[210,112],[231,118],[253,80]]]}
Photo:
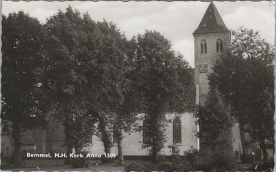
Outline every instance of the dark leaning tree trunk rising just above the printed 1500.
{"label": "dark leaning tree trunk rising just above the printed 1500", "polygon": [[106,131],[106,122],[104,122],[103,118],[99,117],[99,128],[101,130],[101,138],[103,141],[104,151],[106,154],[110,153],[111,141],[109,138],[108,131]]}

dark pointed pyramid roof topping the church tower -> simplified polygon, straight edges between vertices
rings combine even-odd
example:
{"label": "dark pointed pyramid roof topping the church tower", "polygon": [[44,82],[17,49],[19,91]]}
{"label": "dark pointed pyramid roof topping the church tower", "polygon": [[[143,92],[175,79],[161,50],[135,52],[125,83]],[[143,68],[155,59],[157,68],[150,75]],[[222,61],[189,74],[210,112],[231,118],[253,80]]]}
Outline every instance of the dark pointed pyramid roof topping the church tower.
{"label": "dark pointed pyramid roof topping the church tower", "polygon": [[208,9],[206,10],[203,19],[199,23],[199,27],[193,34],[205,34],[205,33],[219,33],[230,32],[224,21],[222,21],[215,4],[210,2]]}

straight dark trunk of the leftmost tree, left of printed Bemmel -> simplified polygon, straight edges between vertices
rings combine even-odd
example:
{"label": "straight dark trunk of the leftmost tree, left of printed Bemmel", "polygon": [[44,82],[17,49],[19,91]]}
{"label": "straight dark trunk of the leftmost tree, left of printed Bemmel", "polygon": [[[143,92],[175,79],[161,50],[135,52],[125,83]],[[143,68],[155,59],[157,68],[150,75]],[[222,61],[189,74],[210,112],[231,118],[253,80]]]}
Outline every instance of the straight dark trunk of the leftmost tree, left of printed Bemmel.
{"label": "straight dark trunk of the leftmost tree, left of printed Bemmel", "polygon": [[14,139],[14,166],[21,166],[21,131],[19,128],[13,128],[12,137]]}

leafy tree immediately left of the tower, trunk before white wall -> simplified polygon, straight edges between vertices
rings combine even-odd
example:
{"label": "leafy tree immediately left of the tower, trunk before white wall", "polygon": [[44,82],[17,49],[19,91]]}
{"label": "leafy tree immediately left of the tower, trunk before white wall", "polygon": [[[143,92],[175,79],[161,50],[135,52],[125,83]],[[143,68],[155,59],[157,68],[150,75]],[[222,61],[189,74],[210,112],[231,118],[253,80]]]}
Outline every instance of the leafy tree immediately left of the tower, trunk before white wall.
{"label": "leafy tree immediately left of the tower, trunk before white wall", "polygon": [[193,72],[159,32],[146,30],[137,36],[136,43],[137,78],[141,80],[146,100],[144,120],[150,125],[150,140],[142,147],[149,148],[152,160],[157,162],[166,142],[166,113],[188,107],[188,100],[193,96]]}

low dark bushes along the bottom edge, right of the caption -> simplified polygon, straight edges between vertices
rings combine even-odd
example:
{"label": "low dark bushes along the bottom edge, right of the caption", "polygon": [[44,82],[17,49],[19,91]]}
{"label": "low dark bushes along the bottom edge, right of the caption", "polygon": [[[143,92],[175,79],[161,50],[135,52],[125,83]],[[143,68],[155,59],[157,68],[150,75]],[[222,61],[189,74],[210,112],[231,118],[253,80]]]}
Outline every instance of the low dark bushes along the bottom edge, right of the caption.
{"label": "low dark bushes along the bottom edge, right of the caption", "polygon": [[159,163],[144,162],[141,164],[132,163],[126,166],[126,171],[233,171],[236,169],[235,158],[227,153],[213,155],[210,151],[198,151],[191,147],[185,151],[184,158],[179,155],[179,149],[169,146],[172,149],[170,160]]}

